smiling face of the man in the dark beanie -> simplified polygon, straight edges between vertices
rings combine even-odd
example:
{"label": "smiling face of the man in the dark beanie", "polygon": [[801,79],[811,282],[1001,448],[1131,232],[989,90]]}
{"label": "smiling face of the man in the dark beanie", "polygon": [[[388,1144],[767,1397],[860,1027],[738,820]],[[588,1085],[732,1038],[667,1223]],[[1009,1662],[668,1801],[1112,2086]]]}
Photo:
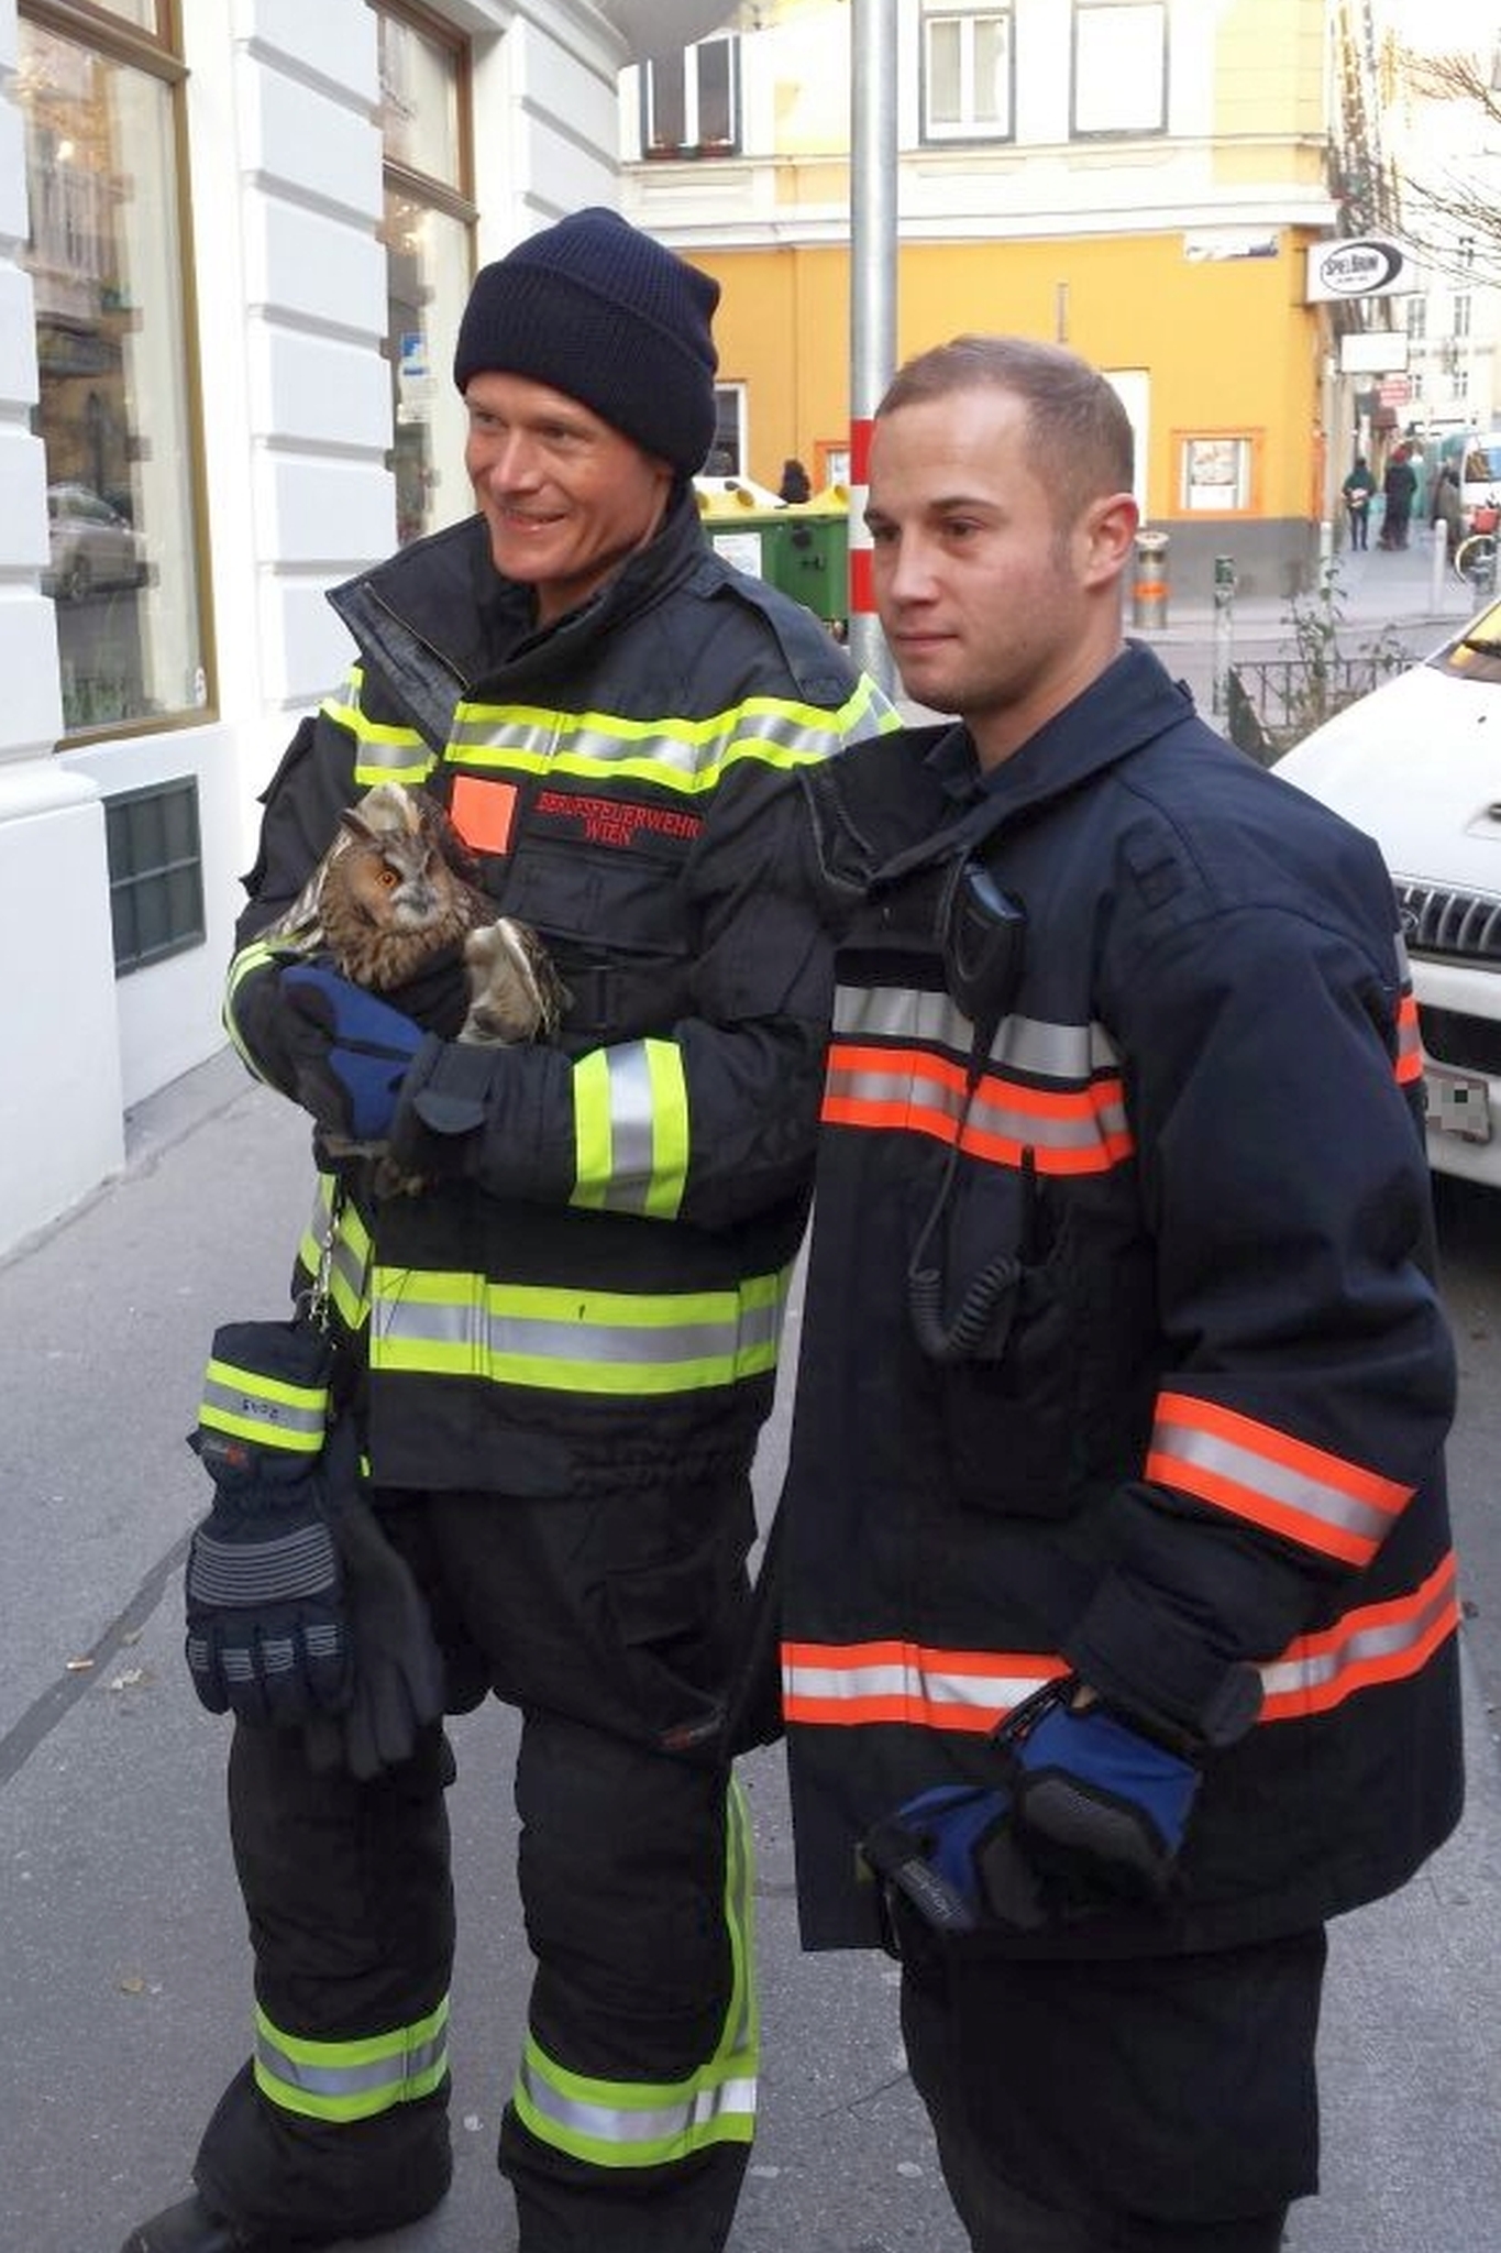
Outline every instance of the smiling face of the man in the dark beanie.
{"label": "smiling face of the man in the dark beanie", "polygon": [[578,608],[662,523],[673,471],[590,408],[529,376],[484,372],[464,392],[464,466],[506,579],[536,588],[538,624]]}

